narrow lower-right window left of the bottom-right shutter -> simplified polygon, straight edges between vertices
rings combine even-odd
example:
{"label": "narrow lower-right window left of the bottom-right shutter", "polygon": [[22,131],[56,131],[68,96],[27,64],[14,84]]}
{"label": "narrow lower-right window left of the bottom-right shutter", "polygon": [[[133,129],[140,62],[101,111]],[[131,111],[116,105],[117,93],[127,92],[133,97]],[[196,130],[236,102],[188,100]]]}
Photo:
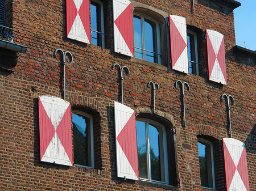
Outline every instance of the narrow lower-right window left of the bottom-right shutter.
{"label": "narrow lower-right window left of the bottom-right shutter", "polygon": [[201,186],[215,189],[213,144],[206,139],[197,138]]}

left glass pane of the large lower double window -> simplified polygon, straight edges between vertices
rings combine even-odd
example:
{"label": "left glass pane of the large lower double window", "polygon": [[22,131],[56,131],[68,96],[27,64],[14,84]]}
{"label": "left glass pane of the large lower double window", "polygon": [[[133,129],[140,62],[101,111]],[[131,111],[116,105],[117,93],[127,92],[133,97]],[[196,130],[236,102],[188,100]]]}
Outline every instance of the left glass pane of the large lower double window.
{"label": "left glass pane of the large lower double window", "polygon": [[139,160],[139,177],[148,179],[147,176],[147,144],[146,144],[146,123],[136,121],[137,146]]}

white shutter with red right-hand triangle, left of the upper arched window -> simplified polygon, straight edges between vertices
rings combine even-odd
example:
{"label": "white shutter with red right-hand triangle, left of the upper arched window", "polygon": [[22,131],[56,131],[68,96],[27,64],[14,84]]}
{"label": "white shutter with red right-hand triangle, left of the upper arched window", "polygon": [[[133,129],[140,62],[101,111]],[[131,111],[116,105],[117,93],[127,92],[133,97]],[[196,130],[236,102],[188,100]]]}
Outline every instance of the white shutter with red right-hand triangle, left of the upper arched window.
{"label": "white shutter with red right-hand triangle, left of the upper arched window", "polygon": [[114,52],[134,55],[133,11],[129,0],[113,0]]}

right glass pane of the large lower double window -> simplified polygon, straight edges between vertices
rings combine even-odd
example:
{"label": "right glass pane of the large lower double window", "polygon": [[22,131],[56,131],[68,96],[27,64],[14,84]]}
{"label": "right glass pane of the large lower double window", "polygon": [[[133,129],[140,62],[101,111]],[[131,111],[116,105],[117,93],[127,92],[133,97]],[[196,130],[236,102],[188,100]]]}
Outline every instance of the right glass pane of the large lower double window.
{"label": "right glass pane of the large lower double window", "polygon": [[152,125],[148,125],[150,140],[151,179],[161,181],[159,131]]}

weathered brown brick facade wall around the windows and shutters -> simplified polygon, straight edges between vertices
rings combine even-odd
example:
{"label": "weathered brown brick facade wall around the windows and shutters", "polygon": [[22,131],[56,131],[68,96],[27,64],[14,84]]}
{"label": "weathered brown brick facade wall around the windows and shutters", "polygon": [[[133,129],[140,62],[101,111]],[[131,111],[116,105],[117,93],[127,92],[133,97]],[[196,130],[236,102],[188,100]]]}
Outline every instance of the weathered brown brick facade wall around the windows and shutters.
{"label": "weathered brown brick facade wall around the windows and shutters", "polygon": [[[7,1],[6,1],[7,2]],[[105,48],[67,39],[65,1],[8,1],[8,27],[14,42],[28,46],[26,53],[0,48],[0,189],[2,190],[208,190],[201,188],[197,138],[213,142],[216,190],[225,190],[222,138],[229,137],[226,101],[232,95],[232,135],[246,145],[250,190],[256,190],[256,56],[238,54],[234,32],[233,1],[132,1],[166,16],[179,15],[187,26],[198,31],[199,76],[174,71],[165,66],[114,53],[112,1],[104,1]],[[12,12],[10,12],[10,10]],[[12,15],[12,19],[9,19]],[[205,30],[224,35],[227,85],[210,82],[207,68]],[[168,27],[166,23],[166,35]],[[168,39],[168,38],[167,38]],[[167,41],[167,40],[166,40]],[[170,49],[168,42],[162,51]],[[93,116],[94,169],[66,167],[40,162],[38,96],[63,97],[63,65],[57,48],[69,51],[73,61],[65,65],[66,100],[72,109]],[[7,56],[10,56],[10,60]],[[17,58],[18,55],[18,58]],[[127,66],[123,74],[123,103],[135,114],[164,118],[174,133],[175,175],[170,185],[124,180],[117,177],[115,155],[114,101],[121,101],[119,70],[114,63]],[[160,86],[155,92],[153,114],[150,81]],[[185,89],[186,126],[177,80],[189,83]],[[171,166],[171,165],[170,165]],[[176,180],[175,180],[176,179]]]}

